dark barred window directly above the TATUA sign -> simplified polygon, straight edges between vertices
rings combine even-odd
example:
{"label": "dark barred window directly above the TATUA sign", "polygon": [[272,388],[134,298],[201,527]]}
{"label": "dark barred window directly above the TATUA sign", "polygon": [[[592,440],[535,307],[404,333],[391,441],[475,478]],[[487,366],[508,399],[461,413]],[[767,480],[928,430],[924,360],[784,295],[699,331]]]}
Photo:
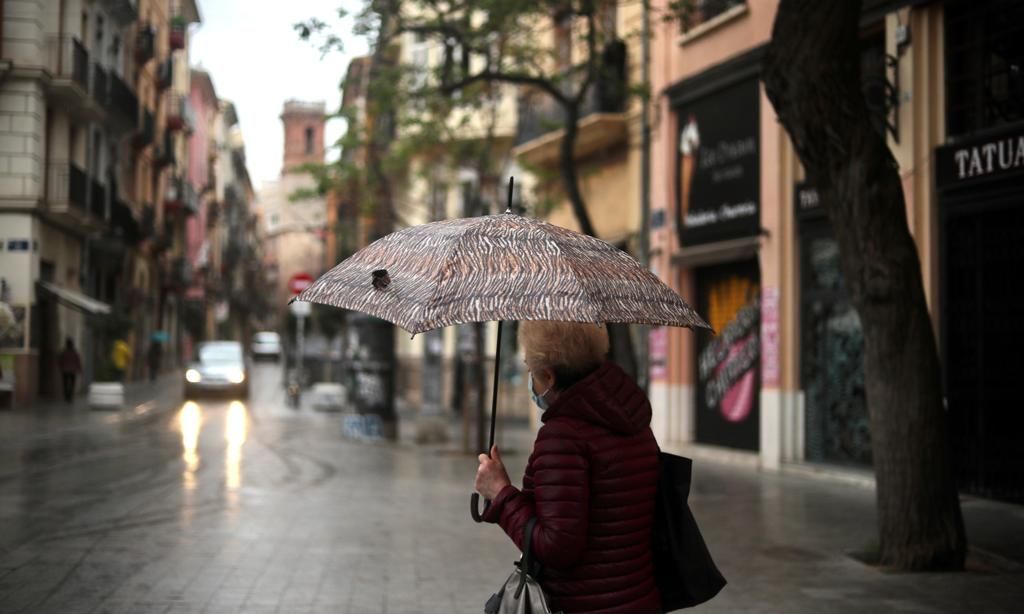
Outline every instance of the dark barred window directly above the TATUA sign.
{"label": "dark barred window directly above the TATUA sign", "polygon": [[949,2],[945,21],[948,134],[1024,121],[1024,4]]}

